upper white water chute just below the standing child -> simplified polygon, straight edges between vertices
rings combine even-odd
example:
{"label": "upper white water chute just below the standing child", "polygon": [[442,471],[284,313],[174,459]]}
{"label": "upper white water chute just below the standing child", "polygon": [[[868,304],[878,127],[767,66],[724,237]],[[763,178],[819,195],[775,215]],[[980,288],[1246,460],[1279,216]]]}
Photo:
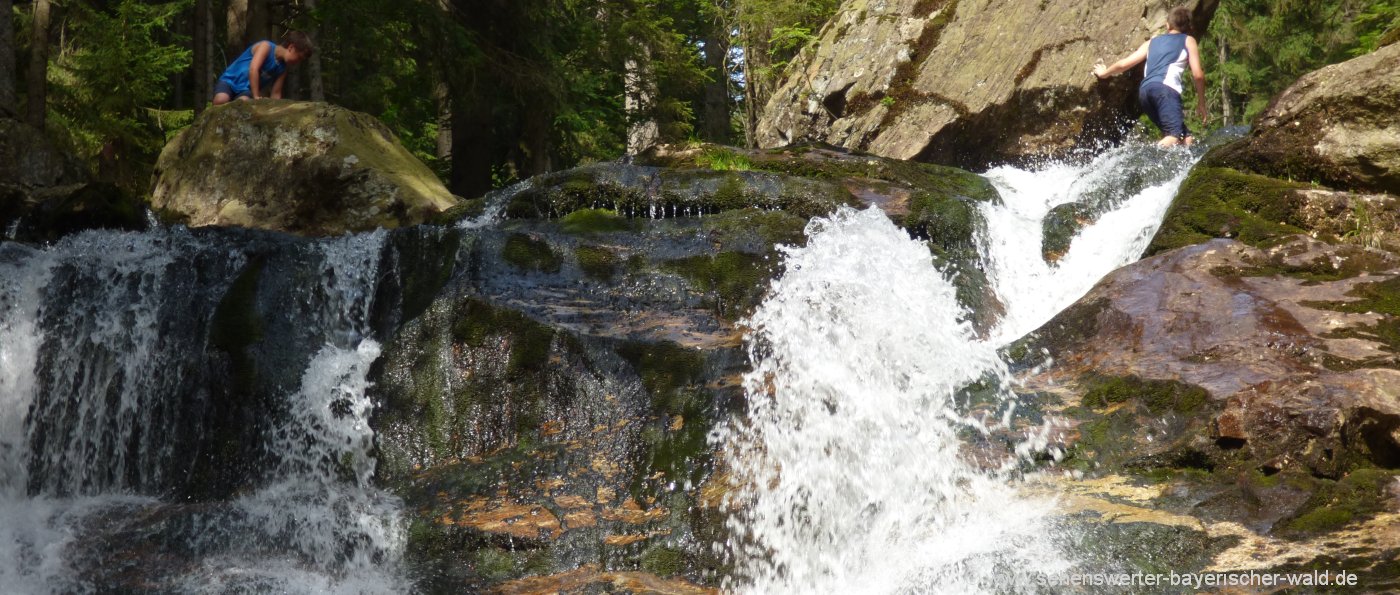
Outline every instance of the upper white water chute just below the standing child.
{"label": "upper white water chute just below the standing child", "polygon": [[[1184,151],[1127,146],[1106,151],[1088,164],[988,171],[986,176],[997,186],[1004,204],[981,206],[987,217],[983,255],[988,263],[987,277],[1007,308],[993,332],[993,342],[1009,343],[1040,328],[1084,297],[1105,274],[1137,260],[1194,162]],[[1123,192],[1116,209],[1079,231],[1070,252],[1054,265],[1046,263],[1040,253],[1040,225],[1050,209],[1085,200],[1091,192],[1112,192],[1113,185],[1124,182],[1130,168],[1149,168],[1149,179],[1162,181],[1140,192]]]}

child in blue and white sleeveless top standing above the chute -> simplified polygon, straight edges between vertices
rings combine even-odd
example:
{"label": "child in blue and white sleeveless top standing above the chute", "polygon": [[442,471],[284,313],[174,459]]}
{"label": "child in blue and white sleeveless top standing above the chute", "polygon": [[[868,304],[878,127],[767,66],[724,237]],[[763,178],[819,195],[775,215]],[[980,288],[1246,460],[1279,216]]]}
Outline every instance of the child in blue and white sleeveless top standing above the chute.
{"label": "child in blue and white sleeveless top standing above the chute", "polygon": [[1093,67],[1093,76],[1102,78],[1127,71],[1147,62],[1142,84],[1138,85],[1138,104],[1156,127],[1162,129],[1158,147],[1176,144],[1191,146],[1191,132],[1186,127],[1182,111],[1182,73],[1191,67],[1191,81],[1196,84],[1196,113],[1201,122],[1210,119],[1205,111],[1205,70],[1201,69],[1201,50],[1196,38],[1187,35],[1191,29],[1191,13],[1176,7],[1166,17],[1166,35],[1158,35],[1144,42],[1137,52],[1114,62]]}

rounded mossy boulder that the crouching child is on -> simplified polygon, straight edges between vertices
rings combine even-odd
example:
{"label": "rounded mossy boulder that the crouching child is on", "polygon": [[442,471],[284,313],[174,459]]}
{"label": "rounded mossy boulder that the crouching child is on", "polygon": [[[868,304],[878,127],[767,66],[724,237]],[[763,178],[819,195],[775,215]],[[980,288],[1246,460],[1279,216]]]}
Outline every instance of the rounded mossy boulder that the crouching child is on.
{"label": "rounded mossy boulder that the crouching child is on", "polygon": [[210,108],[167,144],[151,204],[192,227],[339,235],[419,224],[456,199],[374,116],[265,99]]}

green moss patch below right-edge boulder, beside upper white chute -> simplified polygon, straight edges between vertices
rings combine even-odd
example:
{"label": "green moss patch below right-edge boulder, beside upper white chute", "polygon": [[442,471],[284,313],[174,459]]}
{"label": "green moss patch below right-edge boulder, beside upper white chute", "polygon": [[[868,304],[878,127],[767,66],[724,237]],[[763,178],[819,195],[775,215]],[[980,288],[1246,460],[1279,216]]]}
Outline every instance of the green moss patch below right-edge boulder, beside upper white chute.
{"label": "green moss patch below right-edge boulder, beside upper white chute", "polygon": [[1182,183],[1147,253],[1235,238],[1270,246],[1305,232],[1299,216],[1302,183],[1228,168],[1197,167]]}

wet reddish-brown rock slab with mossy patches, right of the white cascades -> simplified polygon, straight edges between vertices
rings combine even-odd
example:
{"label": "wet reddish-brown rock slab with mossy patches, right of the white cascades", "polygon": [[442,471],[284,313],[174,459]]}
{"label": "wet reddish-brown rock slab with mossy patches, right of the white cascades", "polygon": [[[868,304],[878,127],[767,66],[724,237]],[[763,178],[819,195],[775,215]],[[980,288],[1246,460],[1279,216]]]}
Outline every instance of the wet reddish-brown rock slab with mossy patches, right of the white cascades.
{"label": "wet reddish-brown rock slab with mossy patches, right of the white cascades", "polygon": [[[1379,511],[1400,469],[1397,273],[1393,253],[1303,235],[1214,239],[1109,274],[1011,353],[1054,360],[1029,384],[1072,405],[1064,465],[1197,473],[1176,496],[1191,514],[1333,531]],[[1239,479],[1273,475],[1289,479]]]}

